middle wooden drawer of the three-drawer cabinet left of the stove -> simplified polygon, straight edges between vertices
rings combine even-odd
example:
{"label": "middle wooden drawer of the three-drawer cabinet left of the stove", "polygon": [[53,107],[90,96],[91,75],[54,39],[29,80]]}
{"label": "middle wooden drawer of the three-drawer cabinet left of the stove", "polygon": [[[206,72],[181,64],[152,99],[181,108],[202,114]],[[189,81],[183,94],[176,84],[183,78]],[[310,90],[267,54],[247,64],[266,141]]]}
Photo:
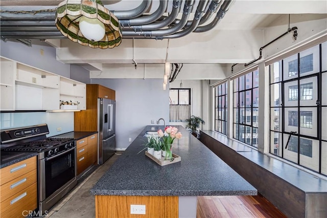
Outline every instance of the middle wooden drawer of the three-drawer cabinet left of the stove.
{"label": "middle wooden drawer of the three-drawer cabinet left of the stove", "polygon": [[3,184],[0,186],[1,202],[15,195],[15,193],[22,189],[29,187],[33,183],[36,183],[36,169]]}

